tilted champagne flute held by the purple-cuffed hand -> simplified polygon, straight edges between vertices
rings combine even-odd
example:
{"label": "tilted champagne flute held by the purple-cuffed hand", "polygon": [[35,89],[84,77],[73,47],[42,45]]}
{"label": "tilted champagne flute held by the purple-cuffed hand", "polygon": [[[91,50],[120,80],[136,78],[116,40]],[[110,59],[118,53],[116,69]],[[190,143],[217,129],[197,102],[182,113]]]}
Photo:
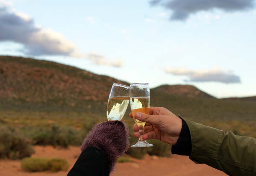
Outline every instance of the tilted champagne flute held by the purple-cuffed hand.
{"label": "tilted champagne flute held by the purple-cuffed hand", "polygon": [[108,98],[108,120],[122,120],[129,104],[130,93],[129,86],[113,83]]}

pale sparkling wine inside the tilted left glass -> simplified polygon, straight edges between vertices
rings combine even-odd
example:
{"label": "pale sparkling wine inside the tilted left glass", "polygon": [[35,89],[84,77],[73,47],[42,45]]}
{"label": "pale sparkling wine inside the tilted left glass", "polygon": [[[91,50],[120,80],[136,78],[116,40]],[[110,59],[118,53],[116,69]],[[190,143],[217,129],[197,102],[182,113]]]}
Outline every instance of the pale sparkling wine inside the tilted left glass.
{"label": "pale sparkling wine inside the tilted left glass", "polygon": [[129,97],[109,97],[107,107],[108,120],[122,120],[129,104]]}

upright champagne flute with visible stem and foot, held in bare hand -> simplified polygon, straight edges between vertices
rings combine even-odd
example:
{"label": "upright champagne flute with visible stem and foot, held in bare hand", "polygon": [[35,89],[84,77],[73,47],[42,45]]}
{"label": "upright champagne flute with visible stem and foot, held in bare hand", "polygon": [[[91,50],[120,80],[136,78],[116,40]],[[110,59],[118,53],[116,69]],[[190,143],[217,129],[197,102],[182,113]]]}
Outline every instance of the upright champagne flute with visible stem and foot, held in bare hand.
{"label": "upright champagne flute with visible stem and foot, held in bare hand", "polygon": [[131,147],[152,147],[153,144],[147,143],[142,136],[144,134],[145,122],[142,122],[135,118],[136,112],[149,114],[150,111],[150,92],[148,83],[134,83],[130,85],[131,97],[130,105],[132,111],[132,117],[139,127],[140,137],[136,144]]}

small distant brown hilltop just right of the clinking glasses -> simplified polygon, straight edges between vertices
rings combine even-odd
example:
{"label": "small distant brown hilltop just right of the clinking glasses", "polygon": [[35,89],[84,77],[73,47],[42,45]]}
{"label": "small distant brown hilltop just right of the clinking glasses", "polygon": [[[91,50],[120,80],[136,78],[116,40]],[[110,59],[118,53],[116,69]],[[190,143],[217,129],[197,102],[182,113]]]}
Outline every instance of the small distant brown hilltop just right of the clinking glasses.
{"label": "small distant brown hilltop just right of the clinking glasses", "polygon": [[215,98],[192,85],[161,85],[154,88],[154,90],[170,95],[182,95],[190,98]]}

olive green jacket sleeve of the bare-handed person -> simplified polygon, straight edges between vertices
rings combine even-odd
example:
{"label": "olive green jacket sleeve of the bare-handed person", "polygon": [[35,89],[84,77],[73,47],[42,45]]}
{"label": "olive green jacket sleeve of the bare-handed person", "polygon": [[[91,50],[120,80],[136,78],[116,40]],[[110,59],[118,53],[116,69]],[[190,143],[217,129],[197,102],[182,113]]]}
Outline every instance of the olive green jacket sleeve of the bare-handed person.
{"label": "olive green jacket sleeve of the bare-handed person", "polygon": [[[185,120],[185,119],[184,119]],[[231,176],[256,176],[256,139],[235,136],[216,128],[185,120],[191,133],[195,163],[204,163]]]}

